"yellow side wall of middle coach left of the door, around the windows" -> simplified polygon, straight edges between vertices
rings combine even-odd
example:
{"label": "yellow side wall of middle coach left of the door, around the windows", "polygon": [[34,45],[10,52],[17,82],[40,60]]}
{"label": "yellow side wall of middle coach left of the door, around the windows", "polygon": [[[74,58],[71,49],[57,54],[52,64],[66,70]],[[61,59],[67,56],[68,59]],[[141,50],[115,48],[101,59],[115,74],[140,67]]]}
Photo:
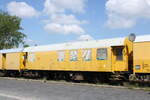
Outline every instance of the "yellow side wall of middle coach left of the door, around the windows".
{"label": "yellow side wall of middle coach left of the door, around the windows", "polygon": [[28,60],[26,69],[28,70],[63,70],[63,71],[111,71],[111,49],[108,49],[107,60],[97,60],[97,48],[92,50],[91,61],[84,61],[82,59],[82,49],[77,50],[78,60],[70,61],[70,50],[64,50],[64,61],[57,61],[58,51],[51,52],[30,52],[28,53]]}

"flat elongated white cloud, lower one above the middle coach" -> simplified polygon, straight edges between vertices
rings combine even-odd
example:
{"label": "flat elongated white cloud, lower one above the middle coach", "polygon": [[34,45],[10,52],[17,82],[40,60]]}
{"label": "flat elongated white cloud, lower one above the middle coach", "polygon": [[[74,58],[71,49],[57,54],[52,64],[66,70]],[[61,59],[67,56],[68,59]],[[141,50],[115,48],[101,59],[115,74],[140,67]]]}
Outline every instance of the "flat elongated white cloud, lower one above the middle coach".
{"label": "flat elongated white cloud, lower one above the middle coach", "polygon": [[50,33],[59,33],[59,34],[84,34],[84,30],[76,24],[56,24],[50,23],[44,27],[45,30],[50,31]]}

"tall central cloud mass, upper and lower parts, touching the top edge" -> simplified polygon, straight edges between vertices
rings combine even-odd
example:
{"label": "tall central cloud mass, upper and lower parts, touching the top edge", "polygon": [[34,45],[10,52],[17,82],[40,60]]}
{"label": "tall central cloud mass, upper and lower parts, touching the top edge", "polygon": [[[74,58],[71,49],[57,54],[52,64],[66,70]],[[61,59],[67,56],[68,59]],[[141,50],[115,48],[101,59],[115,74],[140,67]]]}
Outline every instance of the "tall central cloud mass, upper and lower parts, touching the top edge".
{"label": "tall central cloud mass, upper and lower parts, touching the top edge", "polygon": [[[87,21],[79,20],[73,13],[84,12],[86,0],[45,0],[44,13],[49,16],[44,29],[49,33],[84,34],[81,24]],[[66,14],[69,11],[70,14]]]}

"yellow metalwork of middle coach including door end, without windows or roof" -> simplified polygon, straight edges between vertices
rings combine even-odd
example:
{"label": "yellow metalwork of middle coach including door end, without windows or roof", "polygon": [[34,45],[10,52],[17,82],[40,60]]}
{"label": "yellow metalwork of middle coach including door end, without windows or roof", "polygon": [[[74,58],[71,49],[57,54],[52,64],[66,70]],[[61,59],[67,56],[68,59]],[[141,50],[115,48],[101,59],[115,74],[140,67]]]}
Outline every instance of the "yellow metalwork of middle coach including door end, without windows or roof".
{"label": "yellow metalwork of middle coach including door end, without windows or roof", "polygon": [[[128,41],[129,42],[129,41]],[[92,48],[92,59],[84,61],[82,50],[78,49],[78,60],[70,61],[70,50],[64,50],[64,61],[57,61],[58,51],[50,52],[30,52],[26,69],[28,70],[63,70],[63,71],[96,71],[96,72],[115,72],[128,71],[128,55],[131,53],[131,43],[123,46],[123,61],[116,61],[116,56],[112,47],[107,48],[107,59],[97,60],[96,53],[98,48]],[[100,47],[103,48],[103,47]],[[113,47],[114,48],[114,47]],[[116,48],[116,47],[115,47]],[[119,47],[117,47],[119,48]],[[130,49],[129,49],[130,48]]]}

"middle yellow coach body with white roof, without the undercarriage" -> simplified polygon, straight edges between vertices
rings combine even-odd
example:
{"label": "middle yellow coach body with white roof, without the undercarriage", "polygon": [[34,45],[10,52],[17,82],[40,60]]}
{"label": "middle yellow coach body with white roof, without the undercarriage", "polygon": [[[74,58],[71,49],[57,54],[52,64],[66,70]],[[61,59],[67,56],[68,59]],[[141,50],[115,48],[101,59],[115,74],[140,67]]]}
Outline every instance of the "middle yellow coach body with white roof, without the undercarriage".
{"label": "middle yellow coach body with white roof, without the undercarriage", "polygon": [[127,38],[28,47],[27,70],[128,71],[132,42]]}

